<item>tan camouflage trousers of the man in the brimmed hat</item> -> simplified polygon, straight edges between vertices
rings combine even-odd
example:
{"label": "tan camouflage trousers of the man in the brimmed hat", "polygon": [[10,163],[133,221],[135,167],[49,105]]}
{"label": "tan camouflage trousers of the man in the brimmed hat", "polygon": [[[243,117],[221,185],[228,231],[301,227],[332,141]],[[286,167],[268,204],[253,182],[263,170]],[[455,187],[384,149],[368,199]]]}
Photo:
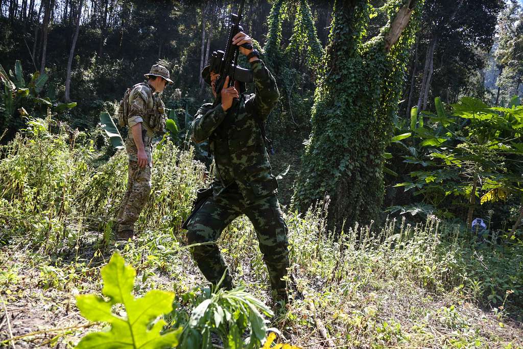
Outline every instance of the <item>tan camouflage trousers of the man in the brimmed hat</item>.
{"label": "tan camouflage trousers of the man in the brimmed hat", "polygon": [[145,153],[147,159],[149,159],[145,168],[138,166],[138,149],[131,137],[126,140],[126,150],[129,155],[129,174],[126,194],[123,196],[122,205],[118,212],[118,231],[134,230],[134,222],[138,220],[140,212],[151,193],[151,144],[145,144]]}

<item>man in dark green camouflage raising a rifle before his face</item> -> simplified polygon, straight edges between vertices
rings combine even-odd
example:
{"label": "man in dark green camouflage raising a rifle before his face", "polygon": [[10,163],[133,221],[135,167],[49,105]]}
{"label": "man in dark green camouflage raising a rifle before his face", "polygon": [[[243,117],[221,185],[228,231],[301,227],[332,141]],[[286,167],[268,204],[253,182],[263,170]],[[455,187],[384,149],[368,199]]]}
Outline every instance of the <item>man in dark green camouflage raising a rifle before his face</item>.
{"label": "man in dark green camouflage raising a rifle before his face", "polygon": [[[245,33],[238,33],[233,44],[252,43]],[[276,197],[278,184],[271,174],[268,154],[260,125],[278,102],[279,92],[274,76],[253,50],[240,47],[252,65],[256,93],[239,96],[236,87],[221,91],[221,104],[204,104],[190,126],[191,140],[199,143],[209,139],[214,155],[216,177],[209,197],[188,222],[188,243],[215,242],[223,229],[236,217],[245,214],[256,229],[259,247],[270,277],[273,296],[287,299],[286,282],[289,267],[287,224]],[[213,86],[217,75],[203,72],[204,80]],[[238,99],[233,99],[238,98]],[[234,101],[234,102],[233,102]],[[203,275],[217,284],[225,273],[222,287],[234,287],[229,268],[217,244],[191,247],[191,253]]]}

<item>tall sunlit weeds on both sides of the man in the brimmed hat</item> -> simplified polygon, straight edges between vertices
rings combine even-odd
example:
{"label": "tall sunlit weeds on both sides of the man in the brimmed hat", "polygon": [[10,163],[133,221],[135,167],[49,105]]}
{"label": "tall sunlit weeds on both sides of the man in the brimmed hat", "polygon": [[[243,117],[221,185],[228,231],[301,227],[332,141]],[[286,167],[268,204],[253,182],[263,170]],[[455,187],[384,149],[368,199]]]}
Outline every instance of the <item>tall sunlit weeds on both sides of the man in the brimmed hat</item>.
{"label": "tall sunlit weeds on both sides of the man in the brimmed hat", "polygon": [[[3,147],[0,240],[24,238],[33,250],[60,253],[93,231],[110,231],[127,183],[127,155],[120,151],[96,166],[93,140],[75,143],[74,136],[49,116],[30,120]],[[138,230],[178,229],[205,171],[192,157],[170,141],[154,151],[152,195]]]}

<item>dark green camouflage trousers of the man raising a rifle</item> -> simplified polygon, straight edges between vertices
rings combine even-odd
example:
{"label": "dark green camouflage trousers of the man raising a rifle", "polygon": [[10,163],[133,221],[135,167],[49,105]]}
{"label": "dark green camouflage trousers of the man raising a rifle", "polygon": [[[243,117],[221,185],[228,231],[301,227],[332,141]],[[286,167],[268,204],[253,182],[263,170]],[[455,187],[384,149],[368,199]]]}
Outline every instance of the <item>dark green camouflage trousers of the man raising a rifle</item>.
{"label": "dark green camouflage trousers of the man raising a rifle", "polygon": [[[260,199],[252,205],[245,204],[237,188],[228,188],[218,196],[211,196],[188,223],[188,243],[217,241],[223,229],[242,213],[251,220],[256,230],[260,251],[269,271],[273,296],[286,298],[286,282],[281,278],[287,275],[289,267],[288,229],[276,195]],[[234,288],[230,270],[217,244],[194,246],[190,251],[201,272],[211,283],[217,284],[223,273],[226,273],[221,286]]]}

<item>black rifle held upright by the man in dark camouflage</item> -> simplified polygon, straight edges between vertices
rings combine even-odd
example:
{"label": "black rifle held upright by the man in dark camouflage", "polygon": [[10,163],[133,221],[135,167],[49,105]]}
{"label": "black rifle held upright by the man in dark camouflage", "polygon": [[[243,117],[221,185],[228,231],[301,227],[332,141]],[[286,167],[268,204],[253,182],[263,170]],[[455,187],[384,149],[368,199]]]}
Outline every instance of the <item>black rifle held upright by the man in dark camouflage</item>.
{"label": "black rifle held upright by the man in dark camouflage", "polygon": [[[244,83],[253,81],[252,72],[248,69],[244,69],[238,66],[237,62],[239,47],[233,45],[232,43],[234,36],[243,30],[242,26],[240,25],[240,21],[242,20],[243,3],[244,0],[242,0],[240,4],[237,15],[231,14],[231,24],[229,28],[229,35],[227,41],[225,42],[225,51],[214,51],[211,55],[210,71],[219,74],[219,78],[216,81],[214,89],[217,94],[217,101],[220,99],[220,92],[224,87],[223,84],[225,83],[225,78],[227,76],[229,76],[229,84],[225,87],[234,86],[234,81],[240,81]],[[248,50],[253,49],[253,46],[250,43],[244,43],[242,44],[242,47]]]}

